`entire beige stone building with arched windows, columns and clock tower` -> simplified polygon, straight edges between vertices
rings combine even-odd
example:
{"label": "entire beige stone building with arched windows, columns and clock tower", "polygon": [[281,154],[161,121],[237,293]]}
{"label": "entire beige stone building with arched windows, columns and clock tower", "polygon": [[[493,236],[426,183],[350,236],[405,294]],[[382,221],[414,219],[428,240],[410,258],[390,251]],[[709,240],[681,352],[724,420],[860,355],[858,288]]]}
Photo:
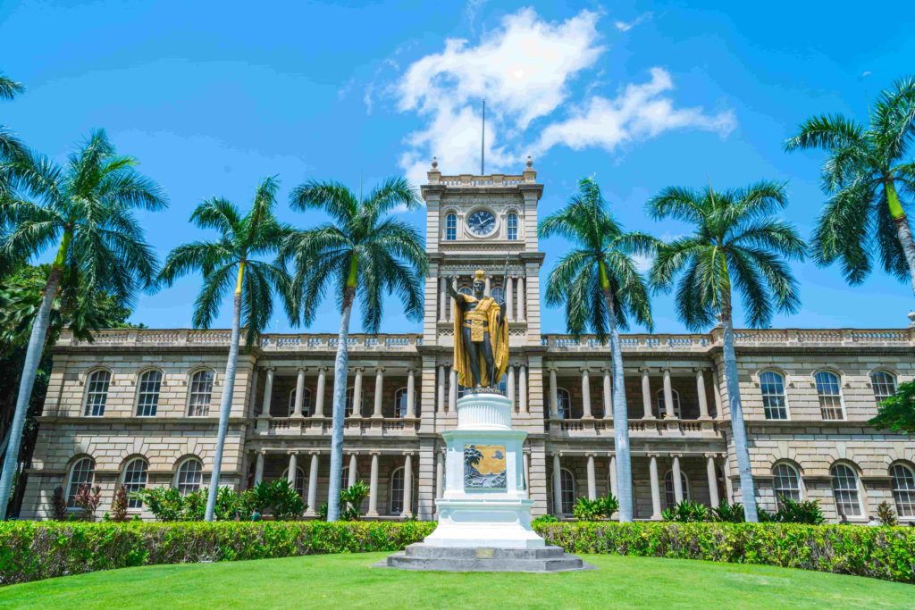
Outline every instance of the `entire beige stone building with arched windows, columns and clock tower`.
{"label": "entire beige stone building with arched windows, columns and clock tower", "polygon": [[[577,497],[616,491],[608,346],[544,335],[543,185],[521,175],[443,176],[426,204],[425,320],[414,335],[350,336],[344,485],[370,484],[369,518],[435,519],[443,487],[440,433],[457,425],[453,326],[446,282],[468,289],[482,269],[504,299],[511,359],[503,387],[529,433],[525,469],[535,515],[569,516]],[[46,518],[57,486],[207,485],[227,330],[66,332],[54,348],[48,398],[22,516]],[[334,334],[264,334],[243,349],[222,482],[286,477],[308,515],[327,501]],[[722,378],[720,329],[622,339],[637,519],[681,498],[740,500]],[[915,331],[767,329],[737,332],[740,389],[759,502],[816,499],[828,519],[865,521],[888,501],[915,519],[915,443],[867,425],[877,401],[915,379]],[[141,506],[131,510],[150,517]]]}

